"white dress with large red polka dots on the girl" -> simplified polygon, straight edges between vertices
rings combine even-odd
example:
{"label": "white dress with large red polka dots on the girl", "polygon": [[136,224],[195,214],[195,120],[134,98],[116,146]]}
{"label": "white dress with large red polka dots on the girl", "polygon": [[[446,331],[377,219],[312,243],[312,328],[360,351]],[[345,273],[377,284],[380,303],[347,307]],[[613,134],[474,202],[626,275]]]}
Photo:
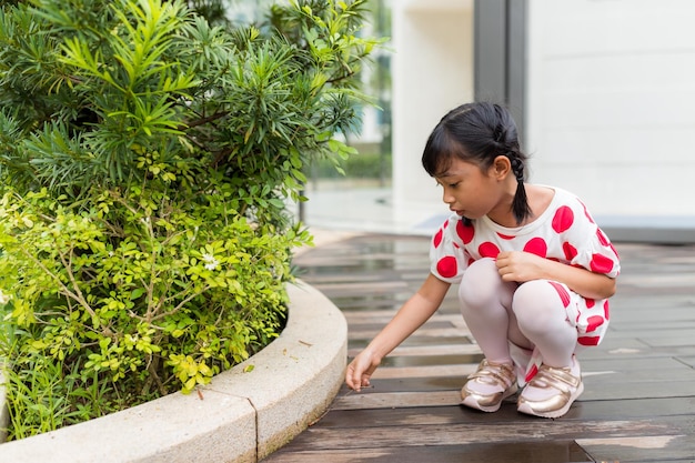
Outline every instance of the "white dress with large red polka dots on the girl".
{"label": "white dress with large red polka dots on the girl", "polygon": [[[447,219],[430,248],[431,272],[449,283],[459,283],[466,268],[502,251],[526,251],[568,265],[615,278],[617,252],[574,194],[554,188],[543,214],[524,227],[505,228],[487,217],[464,224],[459,215]],[[608,300],[585,299],[563,283],[551,282],[578,333],[581,345],[597,345],[608,326]]]}

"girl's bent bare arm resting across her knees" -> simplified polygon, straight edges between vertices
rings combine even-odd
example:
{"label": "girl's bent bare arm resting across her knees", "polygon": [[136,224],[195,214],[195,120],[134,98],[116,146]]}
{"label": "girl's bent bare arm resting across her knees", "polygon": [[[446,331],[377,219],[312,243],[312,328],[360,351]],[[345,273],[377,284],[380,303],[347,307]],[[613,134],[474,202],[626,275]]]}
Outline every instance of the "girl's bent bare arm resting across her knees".
{"label": "girl's bent bare arm resting across her knees", "polygon": [[587,299],[606,299],[615,294],[615,279],[528,252],[501,252],[497,255],[497,270],[504,281],[524,283],[531,280],[553,280],[565,283],[572,291]]}

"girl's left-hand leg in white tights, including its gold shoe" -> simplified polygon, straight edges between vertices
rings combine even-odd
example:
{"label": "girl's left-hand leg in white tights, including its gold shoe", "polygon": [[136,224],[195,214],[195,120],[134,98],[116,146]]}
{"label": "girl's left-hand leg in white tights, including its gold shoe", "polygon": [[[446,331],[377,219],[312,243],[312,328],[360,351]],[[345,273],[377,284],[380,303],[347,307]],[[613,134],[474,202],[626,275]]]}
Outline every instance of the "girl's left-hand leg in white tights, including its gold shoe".
{"label": "girl's left-hand leg in white tights, including its gold shoe", "polygon": [[461,390],[462,404],[495,412],[502,401],[516,392],[516,373],[508,348],[515,283],[500,278],[495,262],[482,259],[471,264],[461,281],[461,312],[485,360]]}

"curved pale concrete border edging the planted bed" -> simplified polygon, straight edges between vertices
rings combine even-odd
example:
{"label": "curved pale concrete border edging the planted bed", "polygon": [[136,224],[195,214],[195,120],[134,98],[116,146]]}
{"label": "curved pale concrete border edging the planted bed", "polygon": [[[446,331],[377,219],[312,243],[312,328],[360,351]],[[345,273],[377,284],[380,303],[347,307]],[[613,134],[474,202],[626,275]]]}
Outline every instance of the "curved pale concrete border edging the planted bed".
{"label": "curved pale concrete border edging the planted bed", "polygon": [[[258,354],[193,393],[0,444],[2,462],[256,462],[319,419],[338,394],[348,324],[314,288],[288,285],[290,316]],[[246,366],[253,370],[244,372]]]}

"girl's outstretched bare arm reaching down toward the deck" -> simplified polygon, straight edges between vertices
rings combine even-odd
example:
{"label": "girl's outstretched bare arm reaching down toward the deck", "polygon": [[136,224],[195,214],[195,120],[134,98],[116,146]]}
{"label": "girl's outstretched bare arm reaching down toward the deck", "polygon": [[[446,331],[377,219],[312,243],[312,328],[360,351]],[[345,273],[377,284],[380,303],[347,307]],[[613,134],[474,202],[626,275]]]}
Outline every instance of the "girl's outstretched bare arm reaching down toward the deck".
{"label": "girl's outstretched bare arm reaching down toward the deck", "polygon": [[450,285],[430,274],[420,290],[403,304],[389,324],[350,362],[345,373],[348,386],[357,392],[362,386],[369,386],[370,378],[382,359],[436,312]]}

